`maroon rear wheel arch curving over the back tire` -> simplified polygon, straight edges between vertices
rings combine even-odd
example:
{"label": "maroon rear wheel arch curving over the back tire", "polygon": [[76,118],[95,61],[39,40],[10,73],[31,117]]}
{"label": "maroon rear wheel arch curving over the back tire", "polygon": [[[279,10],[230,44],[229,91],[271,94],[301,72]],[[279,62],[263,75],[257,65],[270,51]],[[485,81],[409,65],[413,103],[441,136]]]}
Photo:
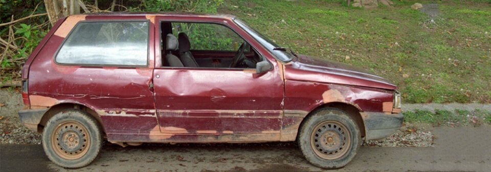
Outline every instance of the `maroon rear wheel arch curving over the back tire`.
{"label": "maroon rear wheel arch curving over the back tire", "polygon": [[37,131],[42,132],[44,126],[46,126],[46,123],[48,122],[48,120],[51,119],[51,117],[55,116],[57,113],[59,113],[63,110],[67,110],[67,109],[78,109],[78,110],[82,110],[82,111],[86,112],[87,114],[90,114],[92,117],[94,117],[94,119],[97,120],[99,127],[102,128],[102,133],[105,136],[105,133],[106,133],[105,128],[104,128],[104,125],[102,123],[102,119],[99,116],[99,114],[96,111],[94,111],[91,107],[88,107],[88,106],[80,104],[80,103],[59,103],[59,104],[51,106],[48,109],[48,111],[46,111],[46,113],[44,113],[42,115],[41,121],[37,125]]}

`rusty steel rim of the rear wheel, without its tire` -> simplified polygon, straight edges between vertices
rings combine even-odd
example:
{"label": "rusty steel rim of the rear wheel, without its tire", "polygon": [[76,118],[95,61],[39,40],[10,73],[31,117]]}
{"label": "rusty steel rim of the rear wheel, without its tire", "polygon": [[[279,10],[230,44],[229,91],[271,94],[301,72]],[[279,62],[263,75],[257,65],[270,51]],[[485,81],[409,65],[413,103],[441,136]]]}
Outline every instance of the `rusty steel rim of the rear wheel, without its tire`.
{"label": "rusty steel rim of the rear wheel, without its tire", "polygon": [[51,146],[63,159],[83,157],[91,145],[91,137],[85,126],[77,121],[65,121],[56,126],[51,135]]}

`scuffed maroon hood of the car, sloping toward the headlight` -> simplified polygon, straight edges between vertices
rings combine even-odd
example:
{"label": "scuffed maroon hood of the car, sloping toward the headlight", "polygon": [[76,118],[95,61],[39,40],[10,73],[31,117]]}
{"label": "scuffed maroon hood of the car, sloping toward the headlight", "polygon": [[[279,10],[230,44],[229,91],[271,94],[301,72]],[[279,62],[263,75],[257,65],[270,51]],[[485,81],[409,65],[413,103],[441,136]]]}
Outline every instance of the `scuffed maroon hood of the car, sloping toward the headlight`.
{"label": "scuffed maroon hood of the car, sloping toward the headlight", "polygon": [[285,78],[312,82],[339,83],[395,90],[397,86],[368,71],[340,62],[298,55],[285,65]]}

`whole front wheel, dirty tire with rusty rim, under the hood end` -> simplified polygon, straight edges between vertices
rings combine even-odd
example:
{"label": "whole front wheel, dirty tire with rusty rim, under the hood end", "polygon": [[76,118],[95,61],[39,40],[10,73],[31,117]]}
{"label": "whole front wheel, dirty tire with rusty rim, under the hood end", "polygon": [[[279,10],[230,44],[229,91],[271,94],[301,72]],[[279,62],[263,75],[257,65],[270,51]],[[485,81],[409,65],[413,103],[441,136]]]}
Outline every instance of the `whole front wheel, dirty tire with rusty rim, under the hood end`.
{"label": "whole front wheel, dirty tire with rusty rim, under the hood end", "polygon": [[[314,132],[316,129],[317,131]],[[341,130],[344,131],[346,129],[347,131],[341,132]],[[350,139],[349,142],[346,141],[348,138]],[[313,112],[302,123],[297,142],[307,161],[318,167],[332,169],[345,166],[355,157],[356,152],[360,149],[361,135],[358,125],[344,111],[334,108],[322,108]],[[336,145],[336,143],[339,144]],[[322,150],[322,148],[325,149]],[[326,150],[328,148],[329,150]]]}

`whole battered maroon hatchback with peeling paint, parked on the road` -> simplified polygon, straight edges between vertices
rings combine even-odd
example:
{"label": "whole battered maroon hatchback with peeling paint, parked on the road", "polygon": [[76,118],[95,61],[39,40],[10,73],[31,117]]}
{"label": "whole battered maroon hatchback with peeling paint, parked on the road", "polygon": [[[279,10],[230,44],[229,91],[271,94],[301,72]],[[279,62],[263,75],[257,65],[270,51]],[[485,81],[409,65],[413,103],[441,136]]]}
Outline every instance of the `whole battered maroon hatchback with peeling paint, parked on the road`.
{"label": "whole battered maroon hatchback with peeling paint, parked on the road", "polygon": [[396,85],[295,54],[232,15],[72,15],[22,77],[21,121],[69,168],[90,164],[103,140],[297,141],[309,162],[337,168],[403,122]]}

